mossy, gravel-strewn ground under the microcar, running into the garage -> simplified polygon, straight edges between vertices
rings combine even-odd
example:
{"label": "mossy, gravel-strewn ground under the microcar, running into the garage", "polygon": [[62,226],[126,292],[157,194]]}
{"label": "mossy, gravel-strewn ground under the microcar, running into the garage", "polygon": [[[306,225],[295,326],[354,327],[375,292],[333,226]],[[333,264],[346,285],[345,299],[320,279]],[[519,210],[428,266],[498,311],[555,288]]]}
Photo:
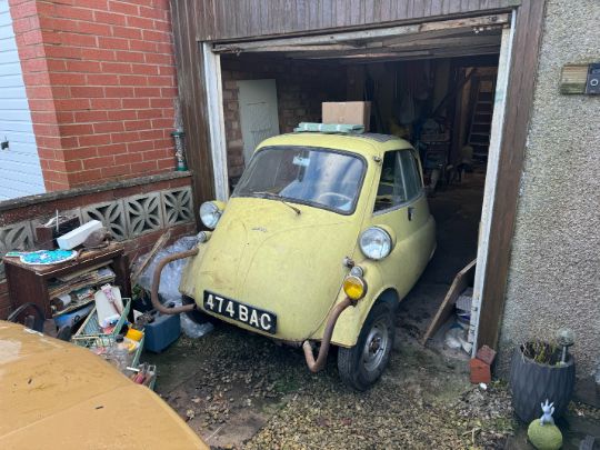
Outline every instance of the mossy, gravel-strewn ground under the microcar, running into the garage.
{"label": "mossy, gravel-strewn ground under the microcar, running into the garage", "polygon": [[[340,382],[336,351],[311,374],[298,349],[221,322],[201,339],[144,354],[158,366],[157,392],[214,449],[529,450],[504,383],[473,387],[466,353],[443,348],[440,336],[428,348],[418,342],[454,274],[476,257],[482,187],[474,173],[430,199],[438,251],[398,311],[390,364],[368,392]],[[596,432],[598,418],[573,404],[561,422],[564,448]]]}

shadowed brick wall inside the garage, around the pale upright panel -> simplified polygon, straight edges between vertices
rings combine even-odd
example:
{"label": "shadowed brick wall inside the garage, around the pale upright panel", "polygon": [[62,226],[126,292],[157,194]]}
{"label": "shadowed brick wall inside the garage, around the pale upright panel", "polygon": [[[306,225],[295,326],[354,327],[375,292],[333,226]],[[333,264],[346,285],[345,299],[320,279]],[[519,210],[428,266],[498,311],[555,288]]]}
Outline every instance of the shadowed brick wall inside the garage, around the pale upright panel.
{"label": "shadowed brick wall inside the garage, around the pale upright panel", "polygon": [[339,66],[241,54],[223,56],[221,71],[228,169],[233,179],[244,168],[238,80],[276,80],[281,133],[293,131],[299,122],[320,122],[321,103],[341,101],[346,96],[346,71]]}

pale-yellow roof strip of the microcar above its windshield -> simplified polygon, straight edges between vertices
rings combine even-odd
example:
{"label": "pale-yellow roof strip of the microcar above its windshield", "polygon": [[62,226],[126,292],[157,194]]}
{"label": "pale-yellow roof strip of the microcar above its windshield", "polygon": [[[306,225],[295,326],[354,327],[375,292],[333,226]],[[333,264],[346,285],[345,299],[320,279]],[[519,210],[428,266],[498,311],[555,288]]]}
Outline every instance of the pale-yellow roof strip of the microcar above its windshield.
{"label": "pale-yellow roof strip of the microcar above its windshield", "polygon": [[410,142],[390,134],[294,132],[274,136],[262,141],[258,149],[276,146],[318,147],[347,150],[366,157],[380,156],[383,151],[411,149]]}

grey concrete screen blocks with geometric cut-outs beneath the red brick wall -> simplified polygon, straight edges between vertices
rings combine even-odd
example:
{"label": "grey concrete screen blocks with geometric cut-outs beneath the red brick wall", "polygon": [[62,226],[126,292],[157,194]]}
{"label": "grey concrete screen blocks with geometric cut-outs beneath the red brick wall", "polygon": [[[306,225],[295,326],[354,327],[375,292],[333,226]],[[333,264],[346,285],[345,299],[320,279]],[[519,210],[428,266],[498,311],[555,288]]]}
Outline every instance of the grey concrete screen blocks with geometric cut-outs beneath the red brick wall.
{"label": "grey concrete screen blocks with geometric cut-outs beneath the red brick wall", "polygon": [[[118,241],[136,239],[151,231],[192,222],[191,188],[124,197],[77,208],[69,213],[79,216],[82,222],[101,221]],[[30,219],[0,227],[0,256],[11,250],[33,249],[34,228],[40,222],[40,219]],[[3,277],[4,267],[0,264],[0,278]]]}

